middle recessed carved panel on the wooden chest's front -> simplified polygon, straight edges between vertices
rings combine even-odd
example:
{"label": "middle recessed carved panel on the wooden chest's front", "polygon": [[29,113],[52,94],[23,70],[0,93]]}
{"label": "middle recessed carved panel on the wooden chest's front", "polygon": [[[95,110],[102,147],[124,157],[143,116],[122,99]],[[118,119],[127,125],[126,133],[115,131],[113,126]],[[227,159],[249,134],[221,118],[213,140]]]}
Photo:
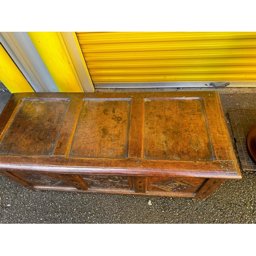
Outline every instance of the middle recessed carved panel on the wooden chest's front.
{"label": "middle recessed carved panel on the wooden chest's front", "polygon": [[130,189],[127,178],[122,176],[88,175],[83,179],[91,187]]}

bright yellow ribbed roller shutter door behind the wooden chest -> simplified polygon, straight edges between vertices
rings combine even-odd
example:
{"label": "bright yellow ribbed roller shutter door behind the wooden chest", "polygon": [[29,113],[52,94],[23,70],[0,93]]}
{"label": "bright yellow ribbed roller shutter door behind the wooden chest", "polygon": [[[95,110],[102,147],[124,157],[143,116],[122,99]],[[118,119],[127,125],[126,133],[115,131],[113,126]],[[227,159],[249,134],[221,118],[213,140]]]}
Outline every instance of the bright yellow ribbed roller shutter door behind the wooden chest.
{"label": "bright yellow ribbed roller shutter door behind the wooden chest", "polygon": [[94,83],[256,81],[256,32],[76,32]]}

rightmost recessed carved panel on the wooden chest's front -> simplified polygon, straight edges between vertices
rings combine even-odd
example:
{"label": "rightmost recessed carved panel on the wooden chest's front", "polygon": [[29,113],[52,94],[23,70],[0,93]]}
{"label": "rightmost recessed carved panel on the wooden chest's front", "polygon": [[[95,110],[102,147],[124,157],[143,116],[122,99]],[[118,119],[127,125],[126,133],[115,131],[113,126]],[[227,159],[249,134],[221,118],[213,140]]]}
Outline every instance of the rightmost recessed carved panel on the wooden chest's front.
{"label": "rightmost recessed carved panel on the wooden chest's front", "polygon": [[147,191],[161,194],[188,193],[194,194],[205,181],[204,178],[158,178],[148,177]]}

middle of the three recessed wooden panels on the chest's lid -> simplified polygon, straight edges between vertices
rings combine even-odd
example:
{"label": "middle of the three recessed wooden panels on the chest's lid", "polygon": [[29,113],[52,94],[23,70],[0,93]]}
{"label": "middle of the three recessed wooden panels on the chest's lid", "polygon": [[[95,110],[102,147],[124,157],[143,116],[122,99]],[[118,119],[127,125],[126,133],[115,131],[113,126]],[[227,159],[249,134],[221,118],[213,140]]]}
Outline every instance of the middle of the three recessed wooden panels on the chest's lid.
{"label": "middle of the three recessed wooden panels on the chest's lid", "polygon": [[127,158],[131,99],[84,99],[70,157]]}

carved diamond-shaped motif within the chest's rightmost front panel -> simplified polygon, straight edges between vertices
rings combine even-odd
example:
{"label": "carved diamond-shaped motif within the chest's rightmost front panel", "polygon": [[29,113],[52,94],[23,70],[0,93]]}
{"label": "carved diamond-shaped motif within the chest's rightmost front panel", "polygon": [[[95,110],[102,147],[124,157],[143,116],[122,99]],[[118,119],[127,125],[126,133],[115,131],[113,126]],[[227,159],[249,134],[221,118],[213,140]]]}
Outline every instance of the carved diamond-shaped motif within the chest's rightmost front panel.
{"label": "carved diamond-shaped motif within the chest's rightmost front panel", "polygon": [[197,185],[184,181],[180,178],[172,178],[157,183],[150,183],[150,185],[164,189],[166,191],[179,191],[186,188],[197,187]]}

